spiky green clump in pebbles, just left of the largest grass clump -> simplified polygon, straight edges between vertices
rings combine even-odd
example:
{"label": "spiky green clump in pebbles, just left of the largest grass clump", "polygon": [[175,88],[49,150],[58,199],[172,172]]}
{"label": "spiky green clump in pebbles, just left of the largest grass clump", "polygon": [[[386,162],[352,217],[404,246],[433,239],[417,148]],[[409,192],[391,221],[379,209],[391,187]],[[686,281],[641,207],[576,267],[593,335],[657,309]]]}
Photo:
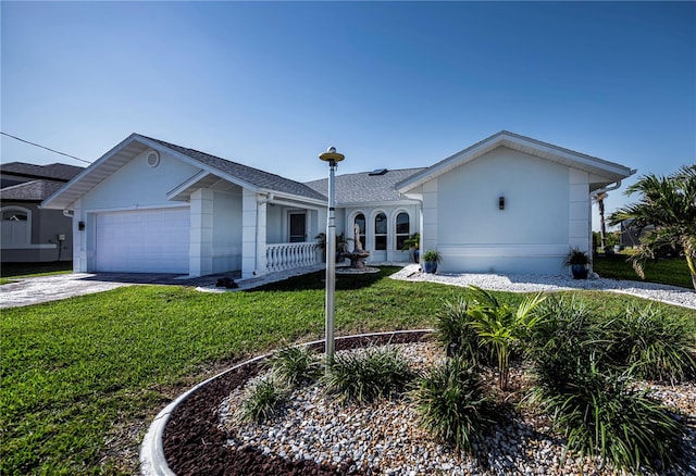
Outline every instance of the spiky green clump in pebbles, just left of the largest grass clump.
{"label": "spiky green clump in pebbles, just left of the largest grass clump", "polygon": [[421,425],[461,451],[475,452],[477,440],[494,421],[476,367],[460,358],[431,368],[411,397]]}

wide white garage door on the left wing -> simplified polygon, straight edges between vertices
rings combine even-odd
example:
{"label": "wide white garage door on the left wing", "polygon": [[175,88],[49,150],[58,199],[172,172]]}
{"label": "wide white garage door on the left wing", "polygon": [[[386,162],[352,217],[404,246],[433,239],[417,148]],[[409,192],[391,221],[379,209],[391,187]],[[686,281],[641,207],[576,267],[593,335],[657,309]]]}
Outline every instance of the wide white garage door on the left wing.
{"label": "wide white garage door on the left wing", "polygon": [[188,209],[101,213],[97,271],[188,274]]}

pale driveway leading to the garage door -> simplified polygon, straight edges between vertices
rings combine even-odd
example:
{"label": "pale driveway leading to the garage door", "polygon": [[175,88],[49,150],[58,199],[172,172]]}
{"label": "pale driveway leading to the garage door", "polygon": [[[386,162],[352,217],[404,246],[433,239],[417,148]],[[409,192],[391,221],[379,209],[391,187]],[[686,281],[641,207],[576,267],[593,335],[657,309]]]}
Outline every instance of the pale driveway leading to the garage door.
{"label": "pale driveway leading to the garage door", "polygon": [[72,273],[18,278],[15,283],[0,286],[0,309],[58,301],[132,285],[214,286],[221,276],[188,278],[174,274]]}

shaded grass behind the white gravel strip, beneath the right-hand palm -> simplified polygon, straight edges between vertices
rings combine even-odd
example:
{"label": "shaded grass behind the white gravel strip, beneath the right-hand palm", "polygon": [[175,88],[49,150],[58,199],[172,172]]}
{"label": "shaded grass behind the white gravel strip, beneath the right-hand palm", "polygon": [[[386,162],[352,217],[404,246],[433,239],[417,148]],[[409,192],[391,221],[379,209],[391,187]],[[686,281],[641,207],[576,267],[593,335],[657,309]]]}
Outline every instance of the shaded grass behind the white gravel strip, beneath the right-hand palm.
{"label": "shaded grass behind the white gravel strip, beneath the right-hand palm", "polygon": [[[642,280],[633,271],[631,262],[626,261],[627,258],[629,254],[595,256],[593,259],[593,268],[601,277],[633,281]],[[687,289],[694,288],[686,260],[666,259],[648,262],[645,265],[645,280]]]}

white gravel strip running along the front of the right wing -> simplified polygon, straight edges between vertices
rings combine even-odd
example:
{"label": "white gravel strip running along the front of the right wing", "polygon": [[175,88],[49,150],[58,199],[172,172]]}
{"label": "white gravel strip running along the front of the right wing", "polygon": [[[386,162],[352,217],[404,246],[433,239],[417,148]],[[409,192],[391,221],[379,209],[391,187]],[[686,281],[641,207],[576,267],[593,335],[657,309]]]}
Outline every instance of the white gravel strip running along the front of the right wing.
{"label": "white gravel strip running along the front of the right wing", "polygon": [[410,264],[390,277],[393,279],[408,281],[431,281],[461,287],[473,285],[493,291],[538,292],[573,289],[612,291],[696,310],[696,292],[694,292],[693,289],[654,283],[600,277],[595,277],[594,279],[573,279],[572,276],[568,275],[432,274],[422,273],[418,264]]}

